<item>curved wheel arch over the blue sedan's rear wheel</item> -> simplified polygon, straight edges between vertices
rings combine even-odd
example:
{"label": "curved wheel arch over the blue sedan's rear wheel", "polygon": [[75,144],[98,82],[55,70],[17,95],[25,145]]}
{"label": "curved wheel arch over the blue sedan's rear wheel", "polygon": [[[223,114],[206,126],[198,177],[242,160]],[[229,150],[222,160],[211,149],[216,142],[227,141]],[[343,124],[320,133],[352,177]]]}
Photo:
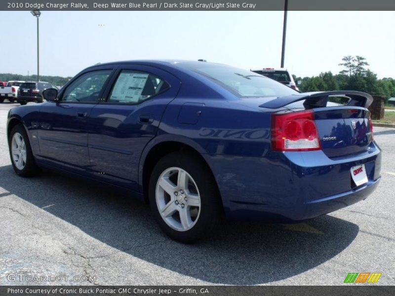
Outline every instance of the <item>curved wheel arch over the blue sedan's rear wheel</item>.
{"label": "curved wheel arch over the blue sedan's rear wheel", "polygon": [[[143,192],[144,200],[147,203],[149,203],[148,200],[149,180],[155,164],[163,156],[176,151],[187,151],[189,153],[194,154],[194,156],[196,156],[197,158],[199,158],[201,160],[201,163],[205,165],[207,169],[210,171],[211,177],[213,178],[215,184],[217,185],[218,196],[221,196],[218,188],[217,180],[214,177],[213,171],[207,160],[202,155],[206,152],[201,146],[199,146],[197,143],[186,137],[170,138],[164,136],[161,137],[161,139],[156,139],[156,141],[153,140],[152,142],[153,143],[150,143],[151,145],[150,144],[147,145],[147,147],[144,149],[139,165],[139,184],[141,186],[140,189]],[[222,202],[222,198],[221,198],[221,202]]]}

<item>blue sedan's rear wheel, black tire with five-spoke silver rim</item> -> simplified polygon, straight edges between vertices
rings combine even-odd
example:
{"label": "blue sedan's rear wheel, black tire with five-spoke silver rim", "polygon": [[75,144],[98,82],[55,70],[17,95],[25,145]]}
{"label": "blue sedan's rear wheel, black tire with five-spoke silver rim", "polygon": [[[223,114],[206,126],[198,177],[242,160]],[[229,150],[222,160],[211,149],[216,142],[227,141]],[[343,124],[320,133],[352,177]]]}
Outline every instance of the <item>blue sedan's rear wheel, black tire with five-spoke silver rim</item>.
{"label": "blue sedan's rear wheel, black tire with five-spoke silver rim", "polygon": [[182,243],[208,236],[222,218],[215,180],[192,153],[173,152],[161,158],[152,171],[148,194],[159,227]]}

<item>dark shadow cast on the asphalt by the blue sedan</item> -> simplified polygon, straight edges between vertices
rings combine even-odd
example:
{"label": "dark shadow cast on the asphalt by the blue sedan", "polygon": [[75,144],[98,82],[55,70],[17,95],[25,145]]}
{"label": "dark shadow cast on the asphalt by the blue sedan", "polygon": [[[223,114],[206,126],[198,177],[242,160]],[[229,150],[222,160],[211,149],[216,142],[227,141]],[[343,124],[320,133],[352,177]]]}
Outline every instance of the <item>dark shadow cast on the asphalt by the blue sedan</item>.
{"label": "dark shadow cast on the asphalt by the blue sedan", "polygon": [[[356,224],[328,215],[301,224],[224,222],[192,245],[167,238],[143,202],[63,175],[16,176],[0,167],[0,186],[131,256],[215,284],[255,285],[305,272],[342,252]],[[40,189],[36,189],[40,188]],[[181,259],[180,259],[181,258]]]}

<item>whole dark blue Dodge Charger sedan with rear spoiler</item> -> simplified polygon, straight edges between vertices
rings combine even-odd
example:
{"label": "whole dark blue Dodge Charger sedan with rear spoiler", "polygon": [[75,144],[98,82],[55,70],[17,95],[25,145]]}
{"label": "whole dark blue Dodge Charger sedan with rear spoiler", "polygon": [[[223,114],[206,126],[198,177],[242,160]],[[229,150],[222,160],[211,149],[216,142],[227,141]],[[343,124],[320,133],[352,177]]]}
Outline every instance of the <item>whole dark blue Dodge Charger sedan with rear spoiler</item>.
{"label": "whole dark blue Dodge Charger sedan with rear spoiler", "polygon": [[8,113],[16,174],[45,167],[122,189],[181,242],[223,213],[315,218],[365,199],[381,178],[373,99],[361,92],[299,93],[220,64],[130,61],[89,67],[43,96]]}

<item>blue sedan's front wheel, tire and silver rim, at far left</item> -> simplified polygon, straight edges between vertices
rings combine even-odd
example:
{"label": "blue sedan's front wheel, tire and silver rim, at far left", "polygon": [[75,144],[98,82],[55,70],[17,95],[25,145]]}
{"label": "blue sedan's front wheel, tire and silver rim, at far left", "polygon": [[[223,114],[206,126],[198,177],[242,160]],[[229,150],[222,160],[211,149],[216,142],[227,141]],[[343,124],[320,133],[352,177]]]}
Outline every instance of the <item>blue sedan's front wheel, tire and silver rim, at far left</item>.
{"label": "blue sedan's front wheel, tire and silver rim, at far left", "polygon": [[34,159],[29,137],[21,124],[12,128],[9,134],[8,148],[12,167],[17,175],[31,177],[38,174],[39,167]]}

